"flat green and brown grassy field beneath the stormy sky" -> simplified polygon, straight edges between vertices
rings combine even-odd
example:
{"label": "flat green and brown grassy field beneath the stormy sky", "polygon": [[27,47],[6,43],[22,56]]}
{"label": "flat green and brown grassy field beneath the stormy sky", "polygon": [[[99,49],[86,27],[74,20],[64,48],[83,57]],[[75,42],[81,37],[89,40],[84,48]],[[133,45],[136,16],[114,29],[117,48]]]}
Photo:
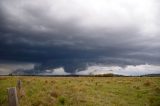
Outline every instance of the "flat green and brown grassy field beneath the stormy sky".
{"label": "flat green and brown grassy field beneath the stormy sky", "polygon": [[160,77],[0,77],[0,106],[7,88],[22,80],[20,106],[160,106]]}

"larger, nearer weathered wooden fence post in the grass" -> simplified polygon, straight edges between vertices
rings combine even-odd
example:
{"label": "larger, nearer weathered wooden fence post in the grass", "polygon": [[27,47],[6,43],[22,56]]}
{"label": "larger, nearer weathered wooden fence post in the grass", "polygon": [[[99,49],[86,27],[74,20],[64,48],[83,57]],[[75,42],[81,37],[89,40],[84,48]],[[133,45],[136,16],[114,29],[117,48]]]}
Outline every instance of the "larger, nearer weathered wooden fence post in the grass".
{"label": "larger, nearer weathered wooden fence post in the grass", "polygon": [[9,106],[18,106],[18,97],[16,87],[8,88]]}

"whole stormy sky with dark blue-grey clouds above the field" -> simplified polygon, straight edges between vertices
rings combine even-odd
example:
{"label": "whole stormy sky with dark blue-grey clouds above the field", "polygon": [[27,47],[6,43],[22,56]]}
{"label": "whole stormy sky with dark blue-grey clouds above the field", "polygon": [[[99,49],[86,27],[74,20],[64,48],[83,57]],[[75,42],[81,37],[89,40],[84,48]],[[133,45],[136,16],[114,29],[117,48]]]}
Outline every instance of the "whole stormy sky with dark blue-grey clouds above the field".
{"label": "whole stormy sky with dark blue-grey clouds above the field", "polygon": [[0,75],[160,73],[159,0],[0,0]]}

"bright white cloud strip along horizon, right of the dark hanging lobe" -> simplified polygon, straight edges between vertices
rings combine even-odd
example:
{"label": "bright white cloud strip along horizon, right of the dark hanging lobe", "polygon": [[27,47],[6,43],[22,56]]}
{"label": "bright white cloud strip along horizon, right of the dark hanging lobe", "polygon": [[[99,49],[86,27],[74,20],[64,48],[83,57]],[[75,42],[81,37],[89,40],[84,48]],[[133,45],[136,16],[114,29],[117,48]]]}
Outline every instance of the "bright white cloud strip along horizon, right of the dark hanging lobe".
{"label": "bright white cloud strip along horizon, right of the dark hanging lobe", "polygon": [[120,66],[90,66],[86,70],[79,71],[77,75],[99,75],[99,74],[117,74],[117,75],[131,75],[139,76],[146,74],[159,74],[160,66],[156,65],[127,65],[125,67]]}

